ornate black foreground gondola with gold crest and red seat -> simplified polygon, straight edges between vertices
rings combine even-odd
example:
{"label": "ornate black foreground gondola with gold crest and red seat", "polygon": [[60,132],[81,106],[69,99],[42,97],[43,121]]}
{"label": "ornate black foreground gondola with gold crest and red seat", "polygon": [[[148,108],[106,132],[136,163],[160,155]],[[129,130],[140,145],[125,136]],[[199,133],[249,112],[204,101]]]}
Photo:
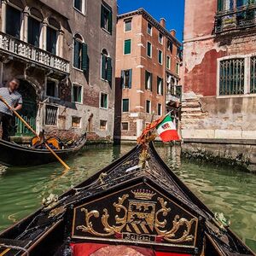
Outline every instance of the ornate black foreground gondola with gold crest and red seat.
{"label": "ornate black foreground gondola with gold crest and red seat", "polygon": [[254,255],[181,182],[152,142],[0,234],[0,255]]}

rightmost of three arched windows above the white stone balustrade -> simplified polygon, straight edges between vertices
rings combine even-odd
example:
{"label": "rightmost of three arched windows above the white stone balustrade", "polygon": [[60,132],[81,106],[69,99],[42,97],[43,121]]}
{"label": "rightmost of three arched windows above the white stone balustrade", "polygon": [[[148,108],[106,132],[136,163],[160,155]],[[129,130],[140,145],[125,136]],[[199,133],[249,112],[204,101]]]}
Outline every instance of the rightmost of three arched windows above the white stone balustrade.
{"label": "rightmost of three arched windows above the white stone balustrade", "polygon": [[49,18],[46,32],[46,50],[56,55],[58,31],[61,29],[60,23],[54,18]]}

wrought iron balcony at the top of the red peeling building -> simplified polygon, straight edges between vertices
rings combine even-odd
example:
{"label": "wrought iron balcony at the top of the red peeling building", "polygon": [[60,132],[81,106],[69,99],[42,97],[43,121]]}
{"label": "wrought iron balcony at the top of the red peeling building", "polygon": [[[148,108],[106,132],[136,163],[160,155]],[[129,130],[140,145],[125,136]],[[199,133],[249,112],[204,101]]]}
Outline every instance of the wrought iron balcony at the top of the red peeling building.
{"label": "wrought iron balcony at the top of the red peeling building", "polygon": [[218,11],[215,17],[215,32],[230,32],[256,26],[256,3],[239,8]]}

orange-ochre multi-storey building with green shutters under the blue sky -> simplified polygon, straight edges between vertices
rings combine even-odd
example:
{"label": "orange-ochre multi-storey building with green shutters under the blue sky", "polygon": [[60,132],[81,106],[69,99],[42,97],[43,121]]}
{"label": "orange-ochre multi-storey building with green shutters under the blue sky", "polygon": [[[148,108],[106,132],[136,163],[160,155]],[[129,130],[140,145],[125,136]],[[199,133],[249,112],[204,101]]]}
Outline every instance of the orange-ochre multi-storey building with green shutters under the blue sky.
{"label": "orange-ochre multi-storey building with green shutters under the blue sky", "polygon": [[[145,125],[180,101],[180,46],[166,20],[144,9],[119,15],[114,137],[136,140]],[[178,95],[178,96],[177,96]]]}

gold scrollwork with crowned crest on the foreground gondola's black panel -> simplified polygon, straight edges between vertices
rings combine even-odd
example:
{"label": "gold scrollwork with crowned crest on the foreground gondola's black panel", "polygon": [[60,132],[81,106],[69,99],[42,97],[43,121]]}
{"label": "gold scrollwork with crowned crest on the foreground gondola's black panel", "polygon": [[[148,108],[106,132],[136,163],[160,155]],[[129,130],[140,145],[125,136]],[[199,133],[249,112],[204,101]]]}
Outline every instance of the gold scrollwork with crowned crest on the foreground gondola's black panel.
{"label": "gold scrollwork with crowned crest on the foreground gondola's black panel", "polygon": [[[130,200],[129,207],[125,207],[125,202],[129,198],[128,194],[119,197],[118,202],[113,203],[113,207],[119,214],[115,215],[115,224],[109,224],[109,213],[108,209],[104,208],[102,213],[102,228],[105,233],[99,233],[94,229],[93,220],[100,218],[100,212],[93,210],[88,211],[84,207],[80,209],[84,212],[84,225],[79,225],[76,230],[82,230],[85,233],[90,233],[94,236],[113,236],[116,234],[126,234],[127,231],[131,234],[142,236],[152,236],[154,241],[160,238],[160,241],[169,241],[172,243],[181,243],[184,241],[195,240],[195,230],[192,233],[193,224],[197,223],[197,218],[181,218],[178,214],[175,215],[174,219],[168,218],[169,212],[172,212],[171,207],[167,207],[167,201],[164,198],[158,197],[157,201],[160,204],[160,209],[156,211],[157,202],[145,200],[145,195],[148,193],[152,197],[155,194],[148,190],[132,191],[137,197],[144,198],[143,201]],[[112,218],[113,219],[113,218]],[[172,224],[171,224],[172,223]],[[169,230],[166,226],[172,228]],[[133,231],[131,231],[133,230]],[[140,233],[141,230],[144,233]],[[126,232],[126,233],[125,233]],[[122,237],[122,236],[119,236]]]}

